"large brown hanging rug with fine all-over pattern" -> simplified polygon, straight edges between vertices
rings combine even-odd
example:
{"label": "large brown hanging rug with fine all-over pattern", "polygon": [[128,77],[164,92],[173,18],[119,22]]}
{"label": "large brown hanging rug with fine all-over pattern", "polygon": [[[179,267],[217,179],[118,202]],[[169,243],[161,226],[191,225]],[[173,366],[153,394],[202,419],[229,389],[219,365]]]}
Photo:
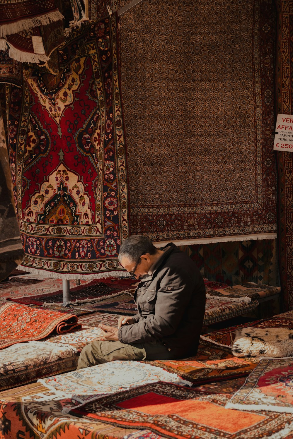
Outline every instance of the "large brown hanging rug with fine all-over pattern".
{"label": "large brown hanging rug with fine all-over pattern", "polygon": [[274,54],[271,1],[152,0],[121,16],[132,234],[276,236]]}

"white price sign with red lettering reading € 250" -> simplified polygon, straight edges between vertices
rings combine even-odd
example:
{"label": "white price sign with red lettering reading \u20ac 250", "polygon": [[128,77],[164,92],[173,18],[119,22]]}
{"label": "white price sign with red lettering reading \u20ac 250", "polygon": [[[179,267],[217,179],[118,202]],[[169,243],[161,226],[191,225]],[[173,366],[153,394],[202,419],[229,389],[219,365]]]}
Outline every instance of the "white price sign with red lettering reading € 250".
{"label": "white price sign with red lettering reading \u20ac 250", "polygon": [[274,151],[293,152],[293,116],[288,114],[278,114]]}

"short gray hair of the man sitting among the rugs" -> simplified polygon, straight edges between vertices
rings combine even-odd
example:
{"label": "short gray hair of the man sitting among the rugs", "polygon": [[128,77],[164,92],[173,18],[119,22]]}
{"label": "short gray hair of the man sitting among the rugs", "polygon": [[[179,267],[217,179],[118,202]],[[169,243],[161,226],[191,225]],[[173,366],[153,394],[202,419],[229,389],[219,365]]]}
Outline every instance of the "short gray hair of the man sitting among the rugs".
{"label": "short gray hair of the man sitting among the rugs", "polygon": [[123,256],[126,256],[131,262],[137,262],[141,255],[146,253],[154,255],[156,251],[148,236],[131,235],[121,244],[118,259],[121,263]]}

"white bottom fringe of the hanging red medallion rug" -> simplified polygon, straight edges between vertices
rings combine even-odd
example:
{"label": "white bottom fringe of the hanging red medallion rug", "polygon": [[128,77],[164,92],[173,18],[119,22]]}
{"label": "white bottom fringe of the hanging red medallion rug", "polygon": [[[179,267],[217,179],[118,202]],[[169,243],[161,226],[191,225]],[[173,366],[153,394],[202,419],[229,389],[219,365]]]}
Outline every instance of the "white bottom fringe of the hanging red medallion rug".
{"label": "white bottom fringe of the hanging red medallion rug", "polygon": [[130,277],[129,273],[126,270],[121,269],[120,270],[112,270],[112,271],[105,271],[103,273],[79,273],[79,274],[72,274],[72,273],[54,273],[53,271],[47,271],[47,270],[39,270],[38,268],[33,267],[27,267],[25,265],[18,265],[17,270],[25,270],[29,273],[33,274],[40,274],[42,276],[46,277],[52,277],[54,279],[64,279],[66,281],[70,281],[71,279],[80,279],[84,281],[93,281],[94,279],[102,279],[103,277]]}

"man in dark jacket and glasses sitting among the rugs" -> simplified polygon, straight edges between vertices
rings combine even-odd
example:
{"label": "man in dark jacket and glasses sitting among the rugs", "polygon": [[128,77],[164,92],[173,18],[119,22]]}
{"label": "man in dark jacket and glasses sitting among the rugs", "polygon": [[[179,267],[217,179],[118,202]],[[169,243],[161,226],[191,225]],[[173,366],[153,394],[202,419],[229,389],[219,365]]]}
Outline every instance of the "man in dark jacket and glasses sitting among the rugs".
{"label": "man in dark jacket and glasses sitting among the rugs", "polygon": [[83,348],[78,369],[113,360],[174,360],[195,355],[205,312],[205,285],[192,259],[173,243],[162,250],[142,235],[123,241],[119,262],[139,280],[138,313],[118,328],[98,325],[107,341]]}

